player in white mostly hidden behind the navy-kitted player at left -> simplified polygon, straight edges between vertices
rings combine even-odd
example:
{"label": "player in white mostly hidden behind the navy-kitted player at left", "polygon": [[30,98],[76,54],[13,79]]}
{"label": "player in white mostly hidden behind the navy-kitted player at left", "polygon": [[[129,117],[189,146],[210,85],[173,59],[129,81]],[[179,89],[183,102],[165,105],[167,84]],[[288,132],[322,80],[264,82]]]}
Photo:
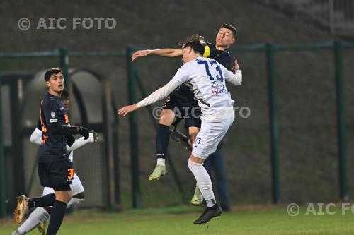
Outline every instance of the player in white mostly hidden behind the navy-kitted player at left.
{"label": "player in white mostly hidden behind the navy-kitted player at left", "polygon": [[[62,103],[64,104],[64,109],[69,111],[69,92],[67,90],[63,90],[61,96]],[[69,123],[68,123],[69,125]],[[30,135],[30,142],[40,145],[42,142],[42,131],[40,131],[40,119],[38,120],[37,128]],[[74,140],[74,143],[69,143],[71,146],[67,145],[67,151],[69,152],[69,159],[73,162],[74,150],[77,150],[79,147],[86,145],[87,143],[96,143],[98,140],[97,133],[90,133],[90,136],[87,140],[84,137]],[[70,189],[72,190],[72,199],[67,203],[67,208],[71,207],[76,203],[80,203],[84,200],[84,186],[79,179],[77,174],[74,174],[74,179],[72,184],[70,185]],[[52,188],[45,187],[43,189],[42,195],[48,195],[50,193],[54,193]],[[45,224],[47,219],[50,217],[50,210],[52,207],[37,207],[33,212],[30,213],[28,219],[21,224],[16,231],[13,231],[11,235],[22,235],[27,234],[35,227],[38,227],[40,234],[45,234]]]}

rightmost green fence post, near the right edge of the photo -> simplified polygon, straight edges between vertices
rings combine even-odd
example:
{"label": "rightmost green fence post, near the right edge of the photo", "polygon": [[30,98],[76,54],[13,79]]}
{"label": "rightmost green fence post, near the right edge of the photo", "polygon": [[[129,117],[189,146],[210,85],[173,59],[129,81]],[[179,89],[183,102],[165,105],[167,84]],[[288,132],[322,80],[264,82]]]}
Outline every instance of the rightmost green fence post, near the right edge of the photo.
{"label": "rightmost green fence post, near the right edge of the photo", "polygon": [[342,200],[348,200],[348,172],[346,156],[346,123],[344,109],[343,90],[343,45],[341,42],[333,43],[334,63],[336,66],[336,108],[337,108],[337,130],[338,130],[338,169],[339,187]]}

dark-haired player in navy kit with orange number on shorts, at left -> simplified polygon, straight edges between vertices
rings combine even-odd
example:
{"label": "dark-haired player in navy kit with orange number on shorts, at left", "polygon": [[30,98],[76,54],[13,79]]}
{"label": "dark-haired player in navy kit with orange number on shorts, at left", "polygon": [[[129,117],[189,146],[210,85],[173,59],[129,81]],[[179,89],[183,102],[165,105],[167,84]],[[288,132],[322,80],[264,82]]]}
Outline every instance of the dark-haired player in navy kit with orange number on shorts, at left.
{"label": "dark-haired player in navy kit with orange number on shorts, at left", "polygon": [[57,234],[64,218],[67,203],[72,198],[70,184],[74,179],[74,168],[67,152],[67,141],[74,143],[74,134],[81,134],[87,140],[89,129],[82,126],[69,126],[67,110],[60,95],[64,90],[64,76],[60,68],[45,72],[47,93],[40,103],[41,145],[38,150],[38,175],[42,186],[52,188],[55,193],[39,198],[18,197],[15,222],[20,224],[28,210],[34,207],[52,206],[47,235]]}

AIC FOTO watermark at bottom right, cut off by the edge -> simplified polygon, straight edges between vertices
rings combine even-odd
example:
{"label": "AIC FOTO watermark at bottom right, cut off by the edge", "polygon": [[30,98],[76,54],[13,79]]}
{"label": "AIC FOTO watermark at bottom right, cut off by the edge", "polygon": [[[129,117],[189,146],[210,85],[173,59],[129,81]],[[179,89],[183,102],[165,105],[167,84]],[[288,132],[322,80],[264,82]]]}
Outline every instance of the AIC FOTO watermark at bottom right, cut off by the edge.
{"label": "AIC FOTO watermark at bottom right, cut off by the edge", "polygon": [[287,205],[287,214],[297,216],[303,215],[346,215],[348,213],[354,215],[354,204],[352,203],[309,203],[305,209],[300,209],[296,203]]}

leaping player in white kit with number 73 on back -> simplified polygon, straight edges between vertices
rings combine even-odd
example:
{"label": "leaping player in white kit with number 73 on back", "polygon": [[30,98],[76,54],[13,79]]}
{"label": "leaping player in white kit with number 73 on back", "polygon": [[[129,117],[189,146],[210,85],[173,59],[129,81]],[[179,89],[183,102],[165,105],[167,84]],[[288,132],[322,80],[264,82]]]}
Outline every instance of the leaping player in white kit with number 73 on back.
{"label": "leaping player in white kit with number 73 on back", "polygon": [[203,167],[203,162],[215,152],[217,145],[234,121],[234,100],[231,99],[231,95],[227,91],[225,80],[234,85],[241,85],[242,81],[240,70],[232,73],[214,59],[203,59],[204,52],[205,47],[200,43],[198,37],[195,35],[189,37],[187,42],[183,44],[182,61],[184,64],[178,69],[172,80],[137,104],[118,110],[118,114],[125,116],[140,107],[164,99],[183,83],[193,90],[202,110],[202,126],[193,143],[188,167],[195,176],[207,205],[205,212],[193,222],[194,224],[206,223],[222,213],[222,209],[215,201],[212,181]]}

